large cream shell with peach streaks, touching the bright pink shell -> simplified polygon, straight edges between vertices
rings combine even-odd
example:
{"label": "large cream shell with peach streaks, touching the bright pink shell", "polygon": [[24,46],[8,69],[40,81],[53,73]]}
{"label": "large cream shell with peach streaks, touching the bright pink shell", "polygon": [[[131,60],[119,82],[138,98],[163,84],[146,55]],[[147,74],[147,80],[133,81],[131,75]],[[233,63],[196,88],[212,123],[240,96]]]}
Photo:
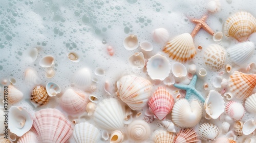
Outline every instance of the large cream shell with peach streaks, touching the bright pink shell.
{"label": "large cream shell with peach streaks, touching the bright pink shell", "polygon": [[150,97],[152,83],[142,77],[126,75],[117,82],[117,95],[133,110],[142,109]]}

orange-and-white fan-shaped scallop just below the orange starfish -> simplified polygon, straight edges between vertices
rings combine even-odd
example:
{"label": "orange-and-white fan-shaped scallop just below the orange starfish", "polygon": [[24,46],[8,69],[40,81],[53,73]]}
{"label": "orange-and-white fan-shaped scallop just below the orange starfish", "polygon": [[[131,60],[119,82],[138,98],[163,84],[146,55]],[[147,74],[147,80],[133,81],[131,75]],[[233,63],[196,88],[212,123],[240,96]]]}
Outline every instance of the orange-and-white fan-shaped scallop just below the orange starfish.
{"label": "orange-and-white fan-shaped scallop just below the orange starfish", "polygon": [[163,48],[165,53],[175,61],[186,62],[194,57],[196,48],[190,34],[184,33],[173,38]]}

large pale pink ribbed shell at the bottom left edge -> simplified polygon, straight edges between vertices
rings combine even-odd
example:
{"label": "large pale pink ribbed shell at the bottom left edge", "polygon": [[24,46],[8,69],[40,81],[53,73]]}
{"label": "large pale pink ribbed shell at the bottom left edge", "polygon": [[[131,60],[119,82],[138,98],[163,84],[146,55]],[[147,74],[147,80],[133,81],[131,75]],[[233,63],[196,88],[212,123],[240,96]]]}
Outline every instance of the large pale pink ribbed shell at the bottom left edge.
{"label": "large pale pink ribbed shell at the bottom left edge", "polygon": [[73,132],[70,121],[57,109],[46,108],[35,112],[33,127],[45,143],[65,143]]}

